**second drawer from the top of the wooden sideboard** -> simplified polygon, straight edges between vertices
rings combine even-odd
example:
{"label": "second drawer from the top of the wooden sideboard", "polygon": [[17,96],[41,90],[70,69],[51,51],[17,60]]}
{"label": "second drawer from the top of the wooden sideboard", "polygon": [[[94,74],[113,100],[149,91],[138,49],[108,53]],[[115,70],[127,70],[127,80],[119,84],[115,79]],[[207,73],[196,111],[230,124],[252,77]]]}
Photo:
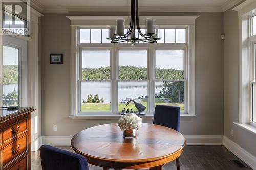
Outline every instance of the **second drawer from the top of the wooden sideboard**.
{"label": "second drawer from the top of the wooden sideboard", "polygon": [[25,135],[3,148],[3,166],[28,149],[27,139]]}

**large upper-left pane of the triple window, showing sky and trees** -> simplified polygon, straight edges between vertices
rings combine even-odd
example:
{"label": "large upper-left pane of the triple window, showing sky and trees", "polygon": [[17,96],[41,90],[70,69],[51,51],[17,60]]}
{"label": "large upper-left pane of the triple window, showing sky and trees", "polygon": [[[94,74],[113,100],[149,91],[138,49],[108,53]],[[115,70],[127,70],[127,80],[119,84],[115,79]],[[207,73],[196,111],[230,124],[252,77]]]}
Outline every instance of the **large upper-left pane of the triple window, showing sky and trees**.
{"label": "large upper-left pane of the triple window, showing sky and trees", "polygon": [[110,51],[82,51],[82,80],[110,79]]}

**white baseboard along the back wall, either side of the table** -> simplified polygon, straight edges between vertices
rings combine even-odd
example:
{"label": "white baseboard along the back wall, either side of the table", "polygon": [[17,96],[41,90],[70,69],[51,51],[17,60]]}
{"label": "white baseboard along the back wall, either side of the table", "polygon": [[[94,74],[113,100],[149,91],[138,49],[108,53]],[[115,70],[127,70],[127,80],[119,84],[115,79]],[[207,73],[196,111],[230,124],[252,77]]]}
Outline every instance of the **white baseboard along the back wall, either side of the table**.
{"label": "white baseboard along the back wall, either side of the table", "polygon": [[[70,146],[70,141],[73,136],[42,136],[42,144],[53,146]],[[223,145],[223,136],[201,136],[187,135],[187,145]]]}

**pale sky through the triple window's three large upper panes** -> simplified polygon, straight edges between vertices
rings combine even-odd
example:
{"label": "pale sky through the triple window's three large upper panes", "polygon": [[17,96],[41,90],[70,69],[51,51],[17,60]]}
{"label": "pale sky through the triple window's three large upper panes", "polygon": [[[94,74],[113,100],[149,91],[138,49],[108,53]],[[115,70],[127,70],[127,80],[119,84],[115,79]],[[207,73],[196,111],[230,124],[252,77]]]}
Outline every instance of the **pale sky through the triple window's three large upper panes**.
{"label": "pale sky through the triple window's three large upper panes", "polygon": [[[157,50],[156,68],[183,69],[183,50]],[[110,51],[82,51],[82,68],[110,67]],[[119,51],[119,66],[146,68],[147,51]]]}

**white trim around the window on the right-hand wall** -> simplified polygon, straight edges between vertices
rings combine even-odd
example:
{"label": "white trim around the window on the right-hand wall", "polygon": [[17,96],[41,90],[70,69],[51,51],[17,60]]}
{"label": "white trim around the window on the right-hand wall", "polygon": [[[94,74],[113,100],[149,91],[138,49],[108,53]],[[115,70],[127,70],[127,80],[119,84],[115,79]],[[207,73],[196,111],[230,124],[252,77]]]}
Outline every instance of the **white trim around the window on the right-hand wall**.
{"label": "white trim around the window on the right-hand wall", "polygon": [[254,44],[256,35],[252,35],[252,16],[256,15],[256,2],[246,0],[233,10],[239,15],[239,123],[234,123],[248,131],[256,131],[252,122],[252,86],[254,68]]}

